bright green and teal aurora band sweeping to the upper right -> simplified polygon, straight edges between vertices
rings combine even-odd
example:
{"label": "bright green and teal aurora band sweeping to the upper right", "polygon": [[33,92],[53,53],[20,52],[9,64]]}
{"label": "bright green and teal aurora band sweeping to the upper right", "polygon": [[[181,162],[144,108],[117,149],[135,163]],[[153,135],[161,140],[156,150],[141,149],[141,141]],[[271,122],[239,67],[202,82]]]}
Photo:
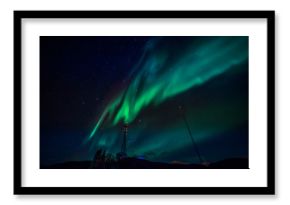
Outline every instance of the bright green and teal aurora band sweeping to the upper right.
{"label": "bright green and teal aurora band sweeping to the upper right", "polygon": [[248,37],[160,37],[144,48],[121,90],[100,113],[87,140],[100,127],[132,123],[148,106],[200,86],[248,60]]}

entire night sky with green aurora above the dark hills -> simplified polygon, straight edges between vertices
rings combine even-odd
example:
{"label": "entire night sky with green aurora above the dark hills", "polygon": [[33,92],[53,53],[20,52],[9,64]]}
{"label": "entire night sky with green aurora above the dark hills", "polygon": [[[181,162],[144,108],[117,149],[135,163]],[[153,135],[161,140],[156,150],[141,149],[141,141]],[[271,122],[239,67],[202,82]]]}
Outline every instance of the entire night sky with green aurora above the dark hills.
{"label": "entire night sky with green aurora above the dark hills", "polygon": [[248,37],[40,37],[40,164],[248,157]]}

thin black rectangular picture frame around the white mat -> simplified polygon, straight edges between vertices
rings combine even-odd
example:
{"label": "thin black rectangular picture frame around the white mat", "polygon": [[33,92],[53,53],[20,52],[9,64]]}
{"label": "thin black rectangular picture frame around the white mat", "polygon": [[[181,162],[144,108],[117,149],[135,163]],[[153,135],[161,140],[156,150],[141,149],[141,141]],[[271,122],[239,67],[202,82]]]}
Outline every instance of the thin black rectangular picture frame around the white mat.
{"label": "thin black rectangular picture frame around the white mat", "polygon": [[[253,18],[267,21],[266,187],[23,187],[22,186],[22,19],[27,18]],[[274,11],[14,11],[14,194],[275,194],[275,12]]]}

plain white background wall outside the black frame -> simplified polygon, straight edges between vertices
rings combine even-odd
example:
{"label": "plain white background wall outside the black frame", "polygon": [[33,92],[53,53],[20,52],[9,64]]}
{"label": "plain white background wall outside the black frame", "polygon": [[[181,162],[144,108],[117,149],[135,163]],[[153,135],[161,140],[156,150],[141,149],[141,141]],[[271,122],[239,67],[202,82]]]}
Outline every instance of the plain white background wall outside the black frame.
{"label": "plain white background wall outside the black frame", "polygon": [[[0,1],[1,204],[289,204],[290,5],[254,0],[10,0]],[[276,196],[14,196],[13,10],[276,10]]]}

